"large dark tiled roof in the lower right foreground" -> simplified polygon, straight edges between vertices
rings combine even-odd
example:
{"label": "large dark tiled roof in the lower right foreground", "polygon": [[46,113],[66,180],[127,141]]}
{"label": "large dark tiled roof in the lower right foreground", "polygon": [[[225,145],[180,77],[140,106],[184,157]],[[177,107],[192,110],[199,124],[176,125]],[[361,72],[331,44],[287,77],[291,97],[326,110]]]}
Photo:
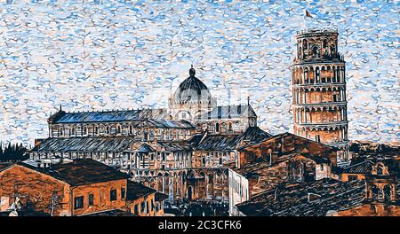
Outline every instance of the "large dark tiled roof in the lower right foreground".
{"label": "large dark tiled roof in the lower right foreground", "polygon": [[363,181],[323,179],[265,191],[236,207],[248,216],[324,216],[361,206],[364,186]]}

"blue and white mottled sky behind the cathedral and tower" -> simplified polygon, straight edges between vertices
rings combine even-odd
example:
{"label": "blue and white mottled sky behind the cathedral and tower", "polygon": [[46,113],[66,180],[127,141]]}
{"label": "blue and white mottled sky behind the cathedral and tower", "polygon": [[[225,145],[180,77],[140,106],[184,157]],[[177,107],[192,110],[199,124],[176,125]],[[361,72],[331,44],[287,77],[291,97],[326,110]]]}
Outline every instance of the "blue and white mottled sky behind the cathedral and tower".
{"label": "blue and white mottled sky behind the cathedral and tower", "polygon": [[32,143],[67,111],[164,107],[190,64],[219,105],[292,131],[294,35],[333,27],[350,139],[398,141],[398,1],[0,1],[0,140]]}

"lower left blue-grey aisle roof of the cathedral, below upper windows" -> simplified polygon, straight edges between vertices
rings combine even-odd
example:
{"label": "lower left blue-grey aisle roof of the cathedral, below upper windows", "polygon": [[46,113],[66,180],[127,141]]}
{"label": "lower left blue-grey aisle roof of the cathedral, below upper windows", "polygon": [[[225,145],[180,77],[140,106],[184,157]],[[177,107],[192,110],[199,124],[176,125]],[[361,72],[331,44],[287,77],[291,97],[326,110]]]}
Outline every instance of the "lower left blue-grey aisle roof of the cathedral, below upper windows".
{"label": "lower left blue-grey aisle roof of the cathedral, below upper windows", "polygon": [[32,152],[124,152],[137,141],[122,136],[47,138]]}

